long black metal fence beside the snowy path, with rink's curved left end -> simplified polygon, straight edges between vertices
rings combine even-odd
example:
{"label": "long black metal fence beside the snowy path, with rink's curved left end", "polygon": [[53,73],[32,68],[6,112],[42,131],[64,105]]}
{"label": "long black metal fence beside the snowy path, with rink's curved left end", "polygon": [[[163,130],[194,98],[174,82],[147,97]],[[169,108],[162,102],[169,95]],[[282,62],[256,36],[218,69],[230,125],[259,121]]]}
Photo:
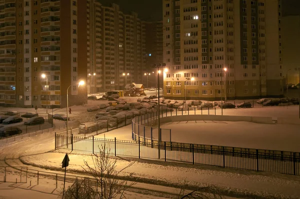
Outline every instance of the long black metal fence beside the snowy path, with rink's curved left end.
{"label": "long black metal fence beside the snowy path, with rink's curved left end", "polygon": [[[142,125],[155,122],[155,117],[148,114],[132,119],[132,141],[55,134],[55,149],[96,154],[105,144],[107,152],[115,156],[300,175],[299,152],[180,143],[172,142],[171,137],[170,141],[158,143],[158,129]],[[170,129],[162,130],[171,136]]]}

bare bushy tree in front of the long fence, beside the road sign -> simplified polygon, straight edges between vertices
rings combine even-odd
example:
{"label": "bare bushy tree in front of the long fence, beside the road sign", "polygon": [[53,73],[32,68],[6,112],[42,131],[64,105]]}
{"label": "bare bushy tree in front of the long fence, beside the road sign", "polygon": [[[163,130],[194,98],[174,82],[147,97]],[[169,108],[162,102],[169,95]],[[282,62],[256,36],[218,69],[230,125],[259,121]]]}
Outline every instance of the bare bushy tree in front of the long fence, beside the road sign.
{"label": "bare bushy tree in front of the long fence, beside the road sign", "polygon": [[126,198],[124,191],[127,190],[136,182],[129,181],[134,174],[130,172],[128,175],[120,176],[120,173],[126,168],[130,167],[133,162],[120,170],[116,170],[116,159],[109,157],[109,150],[106,151],[105,145],[99,147],[99,154],[92,155],[93,165],[90,166],[86,160],[84,171],[91,175],[91,178],[84,178],[83,180],[76,180],[69,186],[63,199],[81,199],[81,198]]}

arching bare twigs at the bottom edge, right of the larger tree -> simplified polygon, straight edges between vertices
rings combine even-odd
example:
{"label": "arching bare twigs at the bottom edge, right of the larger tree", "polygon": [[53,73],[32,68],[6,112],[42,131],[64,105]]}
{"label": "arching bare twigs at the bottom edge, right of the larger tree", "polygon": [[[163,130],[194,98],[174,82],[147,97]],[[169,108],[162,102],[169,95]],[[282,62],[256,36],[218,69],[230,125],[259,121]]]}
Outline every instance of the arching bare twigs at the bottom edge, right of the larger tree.
{"label": "arching bare twigs at the bottom edge, right of the larger tree", "polygon": [[203,186],[195,190],[186,190],[186,181],[182,180],[179,182],[180,192],[178,199],[190,198],[190,199],[223,199],[224,197],[220,194],[220,189],[215,186]]}

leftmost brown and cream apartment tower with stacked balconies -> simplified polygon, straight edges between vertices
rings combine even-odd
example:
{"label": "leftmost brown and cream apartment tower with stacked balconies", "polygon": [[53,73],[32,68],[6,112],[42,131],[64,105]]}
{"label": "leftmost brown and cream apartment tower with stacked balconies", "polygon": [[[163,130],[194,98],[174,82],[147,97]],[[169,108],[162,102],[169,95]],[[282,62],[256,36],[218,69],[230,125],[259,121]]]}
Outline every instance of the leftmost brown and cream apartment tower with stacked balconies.
{"label": "leftmost brown and cream apartment tower with stacked balconies", "polygon": [[[86,81],[86,40],[79,39],[87,38],[86,7],[79,0],[0,0],[1,105],[66,106],[68,86]],[[86,86],[68,94],[70,105],[86,102]]]}

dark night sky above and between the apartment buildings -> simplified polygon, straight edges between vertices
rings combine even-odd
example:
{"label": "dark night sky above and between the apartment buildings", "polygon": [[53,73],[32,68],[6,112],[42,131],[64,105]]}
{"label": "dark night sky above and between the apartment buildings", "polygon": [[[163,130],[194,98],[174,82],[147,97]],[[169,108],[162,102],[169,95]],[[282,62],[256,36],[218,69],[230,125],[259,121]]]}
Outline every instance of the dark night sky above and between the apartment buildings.
{"label": "dark night sky above and between the apartment buildings", "polygon": [[[114,2],[123,12],[135,11],[143,20],[162,19],[162,0],[98,0],[102,3]],[[281,0],[283,15],[300,14],[300,0]]]}

